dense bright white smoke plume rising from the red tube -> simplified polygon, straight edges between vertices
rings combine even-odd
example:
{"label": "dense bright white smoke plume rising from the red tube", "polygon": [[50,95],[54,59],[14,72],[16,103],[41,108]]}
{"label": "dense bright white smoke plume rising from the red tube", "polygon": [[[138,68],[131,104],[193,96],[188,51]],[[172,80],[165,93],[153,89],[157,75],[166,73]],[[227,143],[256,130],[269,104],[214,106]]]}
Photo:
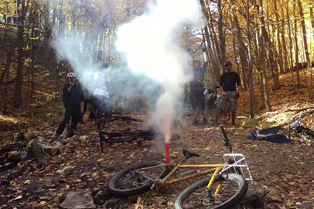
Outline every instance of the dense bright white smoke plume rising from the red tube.
{"label": "dense bright white smoke plume rising from the red tube", "polygon": [[157,0],[147,14],[117,31],[117,50],[125,53],[130,70],[161,83],[163,94],[151,119],[167,141],[172,121],[180,119],[184,84],[190,78],[190,56],[177,38],[187,24],[200,25],[200,14],[196,0]]}

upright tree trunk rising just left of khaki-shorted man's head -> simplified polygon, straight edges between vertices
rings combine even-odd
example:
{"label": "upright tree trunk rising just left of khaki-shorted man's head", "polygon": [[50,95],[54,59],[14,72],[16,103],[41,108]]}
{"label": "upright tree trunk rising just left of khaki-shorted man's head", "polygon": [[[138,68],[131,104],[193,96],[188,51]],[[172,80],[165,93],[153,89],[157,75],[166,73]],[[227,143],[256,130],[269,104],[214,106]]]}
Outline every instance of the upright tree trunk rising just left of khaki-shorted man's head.
{"label": "upright tree trunk rising just left of khaki-shorted man's head", "polygon": [[217,0],[218,7],[218,35],[219,35],[219,45],[220,45],[220,66],[221,66],[221,74],[226,71],[223,66],[223,62],[226,60],[226,51],[225,51],[225,39],[223,35],[223,22],[222,22],[222,0]]}

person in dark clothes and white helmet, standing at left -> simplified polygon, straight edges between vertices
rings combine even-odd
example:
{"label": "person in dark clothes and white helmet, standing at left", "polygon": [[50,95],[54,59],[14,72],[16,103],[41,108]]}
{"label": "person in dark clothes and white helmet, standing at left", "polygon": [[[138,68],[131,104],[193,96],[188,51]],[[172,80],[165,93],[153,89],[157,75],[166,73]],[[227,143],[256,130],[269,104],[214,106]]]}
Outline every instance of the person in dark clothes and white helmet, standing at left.
{"label": "person in dark clothes and white helmet, standing at left", "polygon": [[64,119],[56,130],[55,139],[59,139],[68,122],[71,121],[69,137],[73,137],[74,131],[84,108],[84,94],[82,88],[75,84],[76,75],[74,72],[67,74],[68,83],[62,88],[63,103],[65,106]]}

